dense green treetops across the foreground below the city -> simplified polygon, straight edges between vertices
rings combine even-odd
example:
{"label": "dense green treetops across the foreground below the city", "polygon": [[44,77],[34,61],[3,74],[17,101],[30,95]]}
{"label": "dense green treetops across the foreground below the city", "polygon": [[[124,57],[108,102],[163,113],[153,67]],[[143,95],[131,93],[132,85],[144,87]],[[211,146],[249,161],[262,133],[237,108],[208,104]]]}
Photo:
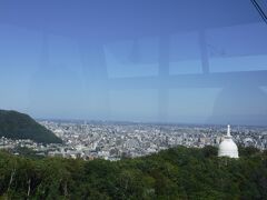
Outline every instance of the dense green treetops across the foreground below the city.
{"label": "dense green treetops across the foreground below the city", "polygon": [[117,162],[0,152],[0,199],[267,199],[267,153],[177,147]]}

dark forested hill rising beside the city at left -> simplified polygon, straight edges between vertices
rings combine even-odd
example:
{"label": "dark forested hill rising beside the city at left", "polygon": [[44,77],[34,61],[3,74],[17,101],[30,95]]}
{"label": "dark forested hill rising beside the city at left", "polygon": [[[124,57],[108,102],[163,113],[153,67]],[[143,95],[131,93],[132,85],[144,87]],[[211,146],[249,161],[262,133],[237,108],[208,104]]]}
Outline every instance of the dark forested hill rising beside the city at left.
{"label": "dark forested hill rising beside the city at left", "polygon": [[0,137],[31,139],[41,143],[61,143],[61,139],[37,123],[32,118],[17,111],[0,110]]}

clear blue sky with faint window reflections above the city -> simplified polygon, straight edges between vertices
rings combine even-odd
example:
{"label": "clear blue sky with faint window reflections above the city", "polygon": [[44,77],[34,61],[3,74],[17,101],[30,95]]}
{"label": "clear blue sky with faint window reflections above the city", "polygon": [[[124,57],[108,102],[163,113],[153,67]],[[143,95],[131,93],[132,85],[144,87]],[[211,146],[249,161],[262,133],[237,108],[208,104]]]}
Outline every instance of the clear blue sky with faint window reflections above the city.
{"label": "clear blue sky with faint window reflections above the city", "polygon": [[266,126],[266,36],[249,0],[2,0],[0,109]]}

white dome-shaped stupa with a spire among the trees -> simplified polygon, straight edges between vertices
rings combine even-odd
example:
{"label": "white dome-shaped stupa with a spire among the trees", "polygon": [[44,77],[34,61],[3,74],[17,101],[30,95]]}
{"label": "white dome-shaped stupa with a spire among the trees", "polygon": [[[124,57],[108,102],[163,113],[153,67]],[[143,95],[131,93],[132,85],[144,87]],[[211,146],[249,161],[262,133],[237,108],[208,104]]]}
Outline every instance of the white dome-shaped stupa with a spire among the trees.
{"label": "white dome-shaped stupa with a spire among the trees", "polygon": [[218,157],[238,158],[238,149],[230,136],[230,126],[227,127],[227,134],[219,144]]}

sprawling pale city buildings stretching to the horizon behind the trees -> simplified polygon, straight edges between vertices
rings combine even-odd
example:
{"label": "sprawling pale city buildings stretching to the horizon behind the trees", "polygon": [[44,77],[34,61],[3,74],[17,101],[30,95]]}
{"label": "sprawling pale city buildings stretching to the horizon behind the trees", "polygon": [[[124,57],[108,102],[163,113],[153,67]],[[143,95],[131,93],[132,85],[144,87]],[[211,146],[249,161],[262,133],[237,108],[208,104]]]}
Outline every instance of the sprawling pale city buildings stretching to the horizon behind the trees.
{"label": "sprawling pale city buildings stretching to the horizon behind the trees", "polygon": [[[218,147],[226,133],[226,126],[56,120],[38,122],[62,139],[63,143],[42,144],[2,137],[0,149],[10,149],[19,154],[16,149],[29,148],[38,156],[116,161],[148,156],[177,146]],[[239,146],[267,149],[266,127],[233,126],[231,136]]]}

